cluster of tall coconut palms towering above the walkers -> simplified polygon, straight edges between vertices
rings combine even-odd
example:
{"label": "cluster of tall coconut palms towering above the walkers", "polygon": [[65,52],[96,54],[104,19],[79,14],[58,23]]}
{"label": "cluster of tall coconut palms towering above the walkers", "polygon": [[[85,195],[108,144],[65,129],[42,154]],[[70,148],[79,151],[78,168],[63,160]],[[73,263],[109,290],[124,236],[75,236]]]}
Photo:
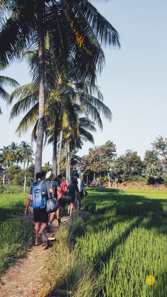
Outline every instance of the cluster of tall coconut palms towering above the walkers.
{"label": "cluster of tall coconut palms towering above the walkers", "polygon": [[[96,82],[105,64],[103,48],[120,48],[119,34],[88,0],[0,0],[0,12],[0,69],[24,60],[32,78],[19,86],[1,76],[1,98],[8,105],[17,100],[10,121],[24,113],[16,133],[32,129],[34,177],[43,145],[52,143],[53,172],[60,173],[63,153],[69,183],[71,155],[83,141],[94,143],[91,132],[95,124],[102,130],[101,116],[111,121]],[[10,96],[4,93],[8,84],[16,88]]]}

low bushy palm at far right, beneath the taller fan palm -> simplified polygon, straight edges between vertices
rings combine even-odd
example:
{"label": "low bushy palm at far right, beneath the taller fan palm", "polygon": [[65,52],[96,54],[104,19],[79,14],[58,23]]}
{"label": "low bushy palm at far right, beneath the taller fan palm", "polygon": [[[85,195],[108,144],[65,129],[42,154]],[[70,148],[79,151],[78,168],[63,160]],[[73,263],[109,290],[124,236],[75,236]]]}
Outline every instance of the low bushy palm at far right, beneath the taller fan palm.
{"label": "low bushy palm at far right, beneath the taller fan palm", "polygon": [[158,183],[164,179],[163,168],[160,165],[151,165],[151,167],[147,169],[146,177],[149,184],[156,184],[156,187],[158,187]]}

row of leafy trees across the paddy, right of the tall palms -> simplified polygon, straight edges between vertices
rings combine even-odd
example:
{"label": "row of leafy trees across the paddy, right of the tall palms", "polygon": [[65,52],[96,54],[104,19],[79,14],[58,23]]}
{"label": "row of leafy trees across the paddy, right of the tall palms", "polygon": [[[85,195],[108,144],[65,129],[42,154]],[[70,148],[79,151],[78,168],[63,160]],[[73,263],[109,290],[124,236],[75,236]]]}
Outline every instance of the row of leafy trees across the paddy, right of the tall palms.
{"label": "row of leafy trees across the paddy, right of the tall palms", "polygon": [[152,143],[152,149],[146,150],[141,161],[137,151],[127,150],[117,157],[116,144],[108,140],[104,145],[89,149],[89,154],[82,157],[79,169],[83,179],[89,183],[103,182],[108,179],[118,183],[123,181],[147,181],[148,184],[164,183],[167,186],[167,138],[158,136]]}

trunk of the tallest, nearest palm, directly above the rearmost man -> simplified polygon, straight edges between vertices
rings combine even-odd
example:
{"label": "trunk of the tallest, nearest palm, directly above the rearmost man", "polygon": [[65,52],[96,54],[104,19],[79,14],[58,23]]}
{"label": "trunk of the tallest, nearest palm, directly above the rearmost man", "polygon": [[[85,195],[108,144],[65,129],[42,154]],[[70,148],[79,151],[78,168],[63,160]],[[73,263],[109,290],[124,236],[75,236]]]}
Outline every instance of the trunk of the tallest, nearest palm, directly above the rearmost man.
{"label": "trunk of the tallest, nearest palm, directly above the rearmost man", "polygon": [[38,56],[39,56],[39,121],[37,135],[37,149],[35,154],[34,180],[37,172],[42,167],[42,146],[45,122],[45,45],[44,45],[44,15],[45,1],[37,0],[37,34],[38,34]]}

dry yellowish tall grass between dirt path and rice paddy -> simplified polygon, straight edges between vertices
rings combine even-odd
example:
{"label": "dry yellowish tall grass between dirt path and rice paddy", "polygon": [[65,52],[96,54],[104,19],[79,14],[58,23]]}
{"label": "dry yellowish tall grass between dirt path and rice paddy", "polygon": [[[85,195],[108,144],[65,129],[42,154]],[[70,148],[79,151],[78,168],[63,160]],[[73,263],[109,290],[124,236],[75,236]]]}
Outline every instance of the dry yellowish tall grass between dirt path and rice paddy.
{"label": "dry yellowish tall grass between dirt path and rice paddy", "polygon": [[[89,265],[75,253],[76,231],[81,233],[86,222],[80,215],[56,232],[56,244],[48,252],[43,274],[51,282],[50,294],[64,290],[70,297],[97,296],[97,277]],[[71,245],[69,245],[71,244]]]}

